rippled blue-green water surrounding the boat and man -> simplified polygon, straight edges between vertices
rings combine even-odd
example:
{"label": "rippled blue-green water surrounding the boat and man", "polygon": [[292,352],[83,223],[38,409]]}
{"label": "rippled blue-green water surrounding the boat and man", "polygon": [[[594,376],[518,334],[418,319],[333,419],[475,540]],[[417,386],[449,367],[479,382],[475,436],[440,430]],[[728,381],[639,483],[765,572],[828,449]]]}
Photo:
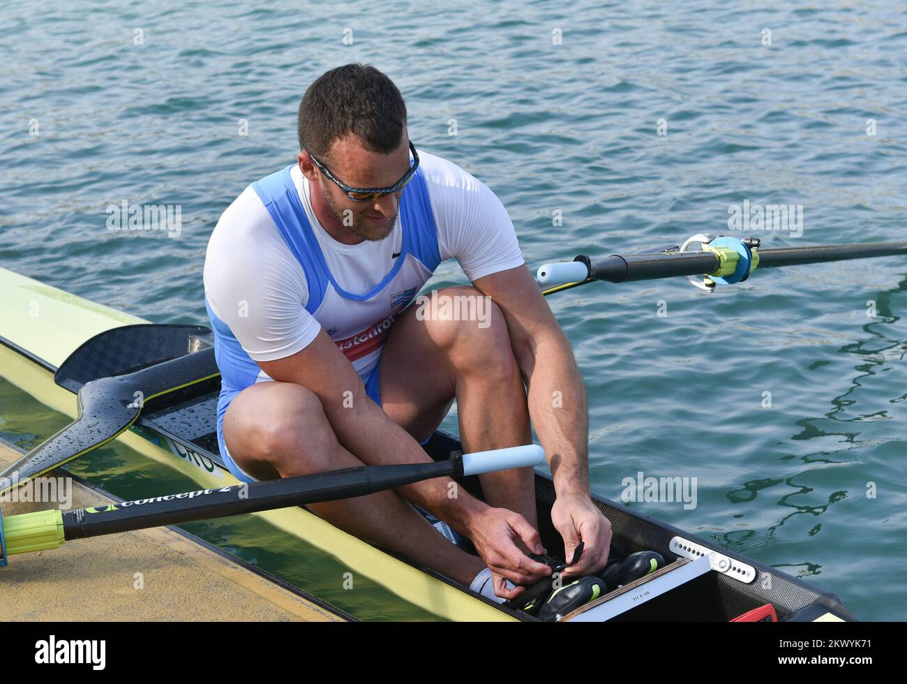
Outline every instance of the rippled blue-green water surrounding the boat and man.
{"label": "rippled blue-green water surrounding the boat and man", "polygon": [[[294,159],[299,97],[354,61],[395,80],[417,147],[499,195],[533,269],[727,231],[744,200],[804,207],[802,237],[757,233],[766,246],[904,239],[902,7],[489,6],[390,3],[375,21],[363,2],[6,3],[0,265],[206,323],[220,212]],[[180,235],[107,230],[123,200],[180,204]],[[693,510],[632,505],[814,580],[864,620],[900,619],[905,271],[881,259],[766,271],[712,296],[681,279],[551,298],[589,391],[595,490],[619,498],[639,471],[695,477]],[[51,418],[4,406],[10,436],[44,434]],[[232,523],[214,536],[250,543]]]}

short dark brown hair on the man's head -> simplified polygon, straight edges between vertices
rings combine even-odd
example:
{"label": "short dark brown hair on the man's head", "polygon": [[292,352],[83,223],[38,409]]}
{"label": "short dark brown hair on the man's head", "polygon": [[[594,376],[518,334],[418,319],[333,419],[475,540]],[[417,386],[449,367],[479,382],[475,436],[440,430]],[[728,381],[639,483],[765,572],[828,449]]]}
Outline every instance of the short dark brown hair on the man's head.
{"label": "short dark brown hair on the man's head", "polygon": [[394,82],[374,66],[345,64],[321,74],[299,103],[299,149],[319,160],[352,132],[366,150],[389,154],[403,138],[406,105]]}

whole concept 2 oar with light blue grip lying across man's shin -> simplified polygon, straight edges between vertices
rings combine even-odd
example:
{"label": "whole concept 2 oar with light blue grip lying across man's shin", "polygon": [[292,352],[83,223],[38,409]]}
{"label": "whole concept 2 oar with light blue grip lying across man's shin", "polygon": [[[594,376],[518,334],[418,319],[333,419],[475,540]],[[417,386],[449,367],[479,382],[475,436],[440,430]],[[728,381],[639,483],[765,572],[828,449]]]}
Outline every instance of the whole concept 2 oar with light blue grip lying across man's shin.
{"label": "whole concept 2 oar with light blue grip lying across man's shin", "polygon": [[545,452],[541,446],[512,446],[474,454],[453,452],[450,460],[435,463],[360,465],[329,473],[168,494],[66,513],[40,511],[5,520],[0,515],[0,565],[6,564],[6,556],[55,549],[73,539],[348,499],[433,477],[461,477],[543,463]]}

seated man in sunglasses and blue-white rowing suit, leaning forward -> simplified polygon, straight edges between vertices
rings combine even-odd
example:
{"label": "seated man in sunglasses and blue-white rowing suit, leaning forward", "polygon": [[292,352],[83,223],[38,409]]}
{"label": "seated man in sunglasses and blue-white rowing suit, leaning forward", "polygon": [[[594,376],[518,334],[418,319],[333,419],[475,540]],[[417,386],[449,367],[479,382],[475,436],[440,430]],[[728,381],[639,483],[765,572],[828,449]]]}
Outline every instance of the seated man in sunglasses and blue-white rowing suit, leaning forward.
{"label": "seated man in sunglasses and blue-white rowing suit, leaning forward", "polygon": [[[599,571],[610,524],[590,500],[585,391],[501,201],[452,162],[415,150],[403,98],[374,67],[347,64],[312,83],[298,133],[297,163],[243,191],[208,246],[218,438],[230,470],[263,480],[426,462],[419,443],[454,398],[467,452],[529,444],[532,417],[567,558],[584,545],[563,575]],[[487,301],[482,320],[406,308],[449,258],[473,287],[439,296],[473,298],[476,310]],[[532,469],[483,475],[484,502],[449,497],[450,484],[310,508],[499,600],[551,574],[526,554],[544,551]],[[481,559],[411,503],[468,536]]]}

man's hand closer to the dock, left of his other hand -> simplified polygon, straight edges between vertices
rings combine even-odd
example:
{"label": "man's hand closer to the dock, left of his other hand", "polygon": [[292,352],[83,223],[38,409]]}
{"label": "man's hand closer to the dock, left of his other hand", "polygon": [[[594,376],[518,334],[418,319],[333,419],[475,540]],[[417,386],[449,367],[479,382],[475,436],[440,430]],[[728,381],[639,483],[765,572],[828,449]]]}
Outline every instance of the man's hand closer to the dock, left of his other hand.
{"label": "man's hand closer to the dock, left of his other hand", "polygon": [[535,562],[522,549],[543,553],[541,537],[520,513],[506,508],[488,508],[470,525],[469,536],[494,576],[494,593],[513,599],[523,591],[517,586],[507,590],[504,579],[514,584],[533,584],[551,575],[551,568]]}

